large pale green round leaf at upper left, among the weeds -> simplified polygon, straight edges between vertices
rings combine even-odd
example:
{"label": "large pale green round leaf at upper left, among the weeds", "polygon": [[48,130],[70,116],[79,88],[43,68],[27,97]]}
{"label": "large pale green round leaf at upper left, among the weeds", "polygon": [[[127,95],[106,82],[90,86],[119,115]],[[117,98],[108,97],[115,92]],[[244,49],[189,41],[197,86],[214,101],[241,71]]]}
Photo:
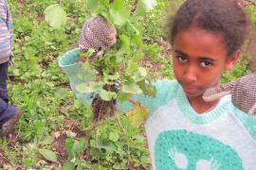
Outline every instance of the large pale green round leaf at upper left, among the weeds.
{"label": "large pale green round leaf at upper left, among the weeds", "polygon": [[53,28],[60,29],[66,23],[64,8],[59,4],[48,6],[45,10],[46,22]]}

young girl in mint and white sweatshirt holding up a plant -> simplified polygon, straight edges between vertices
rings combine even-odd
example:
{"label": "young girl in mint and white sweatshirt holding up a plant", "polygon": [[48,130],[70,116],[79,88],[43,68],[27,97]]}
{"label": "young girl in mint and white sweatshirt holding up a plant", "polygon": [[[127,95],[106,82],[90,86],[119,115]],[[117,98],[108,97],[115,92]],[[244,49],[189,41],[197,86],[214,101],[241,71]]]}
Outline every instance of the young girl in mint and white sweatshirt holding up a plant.
{"label": "young girl in mint and white sweatshirt holding up a plant", "polygon": [[[175,79],[156,81],[155,98],[133,97],[151,110],[145,127],[154,169],[256,169],[256,119],[236,109],[230,95],[212,102],[202,98],[239,59],[246,34],[246,15],[234,1],[187,0],[175,13]],[[71,51],[60,60],[71,87],[77,73],[67,70],[79,63],[66,63],[77,56]]]}

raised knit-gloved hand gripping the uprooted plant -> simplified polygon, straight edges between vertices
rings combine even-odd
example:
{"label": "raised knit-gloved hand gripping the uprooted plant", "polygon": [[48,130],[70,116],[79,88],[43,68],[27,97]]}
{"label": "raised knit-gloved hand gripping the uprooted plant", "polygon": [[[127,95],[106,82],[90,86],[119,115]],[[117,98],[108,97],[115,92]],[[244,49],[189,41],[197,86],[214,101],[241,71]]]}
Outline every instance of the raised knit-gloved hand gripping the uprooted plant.
{"label": "raised knit-gloved hand gripping the uprooted plant", "polygon": [[90,18],[82,27],[79,47],[81,52],[96,51],[93,58],[99,57],[117,42],[117,30],[101,17]]}

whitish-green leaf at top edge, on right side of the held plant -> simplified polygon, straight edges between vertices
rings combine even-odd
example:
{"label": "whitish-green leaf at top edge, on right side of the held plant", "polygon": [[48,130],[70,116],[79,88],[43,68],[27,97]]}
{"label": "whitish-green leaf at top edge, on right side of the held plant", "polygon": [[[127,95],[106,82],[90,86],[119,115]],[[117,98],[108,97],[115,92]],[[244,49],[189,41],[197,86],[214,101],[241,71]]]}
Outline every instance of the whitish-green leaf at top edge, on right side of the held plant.
{"label": "whitish-green leaf at top edge, on right side of the held plant", "polygon": [[143,15],[146,12],[155,8],[157,2],[156,0],[139,0],[137,3],[137,14]]}

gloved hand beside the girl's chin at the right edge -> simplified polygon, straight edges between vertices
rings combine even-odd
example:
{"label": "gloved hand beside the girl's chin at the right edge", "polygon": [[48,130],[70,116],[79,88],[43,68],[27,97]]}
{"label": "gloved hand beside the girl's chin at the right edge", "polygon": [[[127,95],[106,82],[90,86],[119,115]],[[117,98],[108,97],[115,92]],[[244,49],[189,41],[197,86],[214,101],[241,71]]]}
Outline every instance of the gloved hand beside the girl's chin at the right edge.
{"label": "gloved hand beside the girl's chin at the right edge", "polygon": [[216,88],[210,88],[204,93],[203,98],[205,101],[213,101],[226,94],[232,95],[232,103],[237,108],[248,114],[256,115],[256,73],[242,76]]}

